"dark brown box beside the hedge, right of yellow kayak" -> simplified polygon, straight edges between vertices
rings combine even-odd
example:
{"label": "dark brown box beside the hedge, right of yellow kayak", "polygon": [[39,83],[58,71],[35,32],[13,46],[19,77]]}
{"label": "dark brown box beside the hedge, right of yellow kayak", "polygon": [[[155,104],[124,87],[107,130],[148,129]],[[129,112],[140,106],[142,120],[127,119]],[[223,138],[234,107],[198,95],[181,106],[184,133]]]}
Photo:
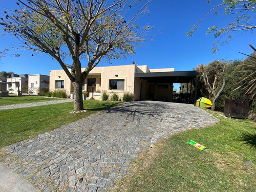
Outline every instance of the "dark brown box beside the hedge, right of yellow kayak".
{"label": "dark brown box beside the hedge, right of yellow kayak", "polygon": [[249,100],[248,99],[226,99],[224,115],[233,118],[248,118]]}

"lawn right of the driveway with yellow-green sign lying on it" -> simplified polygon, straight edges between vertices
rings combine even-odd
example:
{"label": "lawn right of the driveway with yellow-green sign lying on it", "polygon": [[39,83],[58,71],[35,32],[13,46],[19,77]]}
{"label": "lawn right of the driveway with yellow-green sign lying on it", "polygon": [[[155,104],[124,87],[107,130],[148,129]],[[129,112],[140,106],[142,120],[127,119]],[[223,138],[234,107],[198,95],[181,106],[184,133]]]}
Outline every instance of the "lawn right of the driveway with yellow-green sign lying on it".
{"label": "lawn right of the driveway with yellow-green sign lying on it", "polygon": [[[256,124],[218,118],[214,126],[163,139],[142,153],[117,191],[256,191]],[[198,150],[188,140],[207,148]]]}

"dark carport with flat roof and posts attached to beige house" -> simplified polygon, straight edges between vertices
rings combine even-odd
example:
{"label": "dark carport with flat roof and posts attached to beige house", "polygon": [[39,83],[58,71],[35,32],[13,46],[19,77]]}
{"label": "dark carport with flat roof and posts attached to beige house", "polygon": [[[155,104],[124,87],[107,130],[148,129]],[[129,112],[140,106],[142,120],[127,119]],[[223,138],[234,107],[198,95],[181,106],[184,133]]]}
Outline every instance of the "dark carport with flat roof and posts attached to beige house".
{"label": "dark carport with flat roof and posts attached to beige house", "polygon": [[[166,84],[173,86],[173,83],[187,83],[187,92],[183,93],[181,97],[183,97],[183,102],[185,103],[194,103],[196,104],[197,99],[197,71],[172,71],[172,72],[151,72],[151,73],[135,73],[135,78],[144,79],[148,82],[148,100],[156,100],[154,99],[155,94],[155,86],[159,88],[164,88]],[[190,92],[188,92],[189,87],[188,83],[193,82],[195,79],[195,93],[191,93],[191,84],[190,83]],[[159,84],[164,83],[164,84]],[[173,90],[172,90],[173,91]],[[140,98],[142,95],[142,84],[140,87]],[[175,100],[175,99],[172,99]]]}

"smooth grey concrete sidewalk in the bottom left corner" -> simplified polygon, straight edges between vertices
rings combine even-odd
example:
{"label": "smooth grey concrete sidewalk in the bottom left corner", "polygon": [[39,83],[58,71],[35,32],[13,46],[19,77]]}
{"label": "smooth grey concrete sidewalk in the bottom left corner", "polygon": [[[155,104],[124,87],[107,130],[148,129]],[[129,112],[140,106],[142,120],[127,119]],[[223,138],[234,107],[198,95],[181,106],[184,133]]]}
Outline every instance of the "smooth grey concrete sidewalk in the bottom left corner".
{"label": "smooth grey concrete sidewalk in the bottom left corner", "polygon": [[14,173],[7,165],[0,163],[0,191],[1,192],[39,192],[23,177]]}

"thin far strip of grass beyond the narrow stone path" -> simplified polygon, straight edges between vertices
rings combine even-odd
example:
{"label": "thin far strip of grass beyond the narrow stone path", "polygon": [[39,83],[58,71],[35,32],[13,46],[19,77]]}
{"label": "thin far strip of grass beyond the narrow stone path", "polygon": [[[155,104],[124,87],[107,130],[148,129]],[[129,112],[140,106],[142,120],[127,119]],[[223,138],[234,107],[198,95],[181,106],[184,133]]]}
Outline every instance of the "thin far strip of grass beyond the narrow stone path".
{"label": "thin far strip of grass beyond the narrow stone path", "polygon": [[31,103],[31,102],[39,102],[39,101],[52,101],[58,100],[56,98],[46,98],[46,96],[9,96],[9,97],[2,97],[0,99],[0,105],[8,105],[8,104],[20,104],[20,103]]}

